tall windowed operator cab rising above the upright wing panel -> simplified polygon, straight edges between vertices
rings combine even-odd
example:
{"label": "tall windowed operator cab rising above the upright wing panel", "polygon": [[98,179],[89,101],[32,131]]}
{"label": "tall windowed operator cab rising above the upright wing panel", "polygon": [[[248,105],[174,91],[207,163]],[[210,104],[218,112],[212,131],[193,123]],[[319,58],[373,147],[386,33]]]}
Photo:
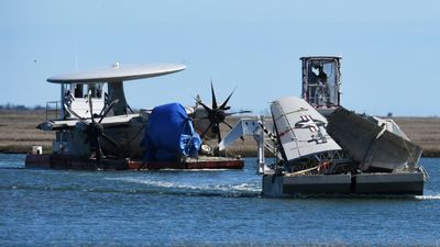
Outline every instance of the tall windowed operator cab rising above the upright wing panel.
{"label": "tall windowed operator cab rising above the upright wing panel", "polygon": [[341,105],[341,57],[301,57],[301,97],[321,114],[328,115]]}

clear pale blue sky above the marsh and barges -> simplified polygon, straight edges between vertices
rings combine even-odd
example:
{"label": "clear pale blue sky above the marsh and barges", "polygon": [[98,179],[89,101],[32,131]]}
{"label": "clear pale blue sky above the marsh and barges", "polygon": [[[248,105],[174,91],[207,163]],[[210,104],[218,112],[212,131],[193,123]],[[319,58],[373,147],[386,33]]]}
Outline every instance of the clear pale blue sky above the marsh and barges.
{"label": "clear pale blue sky above the marsh and barges", "polygon": [[0,1],[0,104],[59,99],[51,76],[124,64],[178,63],[124,83],[132,108],[210,104],[267,113],[300,96],[301,56],[342,56],[342,105],[440,115],[440,1]]}

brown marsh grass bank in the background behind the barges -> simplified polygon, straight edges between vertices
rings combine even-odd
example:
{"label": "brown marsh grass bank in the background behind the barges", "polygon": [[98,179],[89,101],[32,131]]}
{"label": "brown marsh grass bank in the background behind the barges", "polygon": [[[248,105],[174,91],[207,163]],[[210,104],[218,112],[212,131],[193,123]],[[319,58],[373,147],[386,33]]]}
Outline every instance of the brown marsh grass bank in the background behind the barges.
{"label": "brown marsh grass bank in the background behind the barges", "polygon": [[[0,153],[26,154],[32,151],[32,146],[42,146],[43,154],[52,153],[52,141],[55,132],[44,132],[35,128],[46,120],[45,109],[0,109]],[[53,114],[47,115],[48,119]],[[402,131],[424,149],[422,157],[440,157],[440,117],[392,117]],[[237,119],[228,120],[231,125]],[[222,133],[228,131],[222,125]],[[223,136],[224,136],[223,134]],[[237,141],[228,148],[229,156],[255,157],[256,145],[253,138]]]}

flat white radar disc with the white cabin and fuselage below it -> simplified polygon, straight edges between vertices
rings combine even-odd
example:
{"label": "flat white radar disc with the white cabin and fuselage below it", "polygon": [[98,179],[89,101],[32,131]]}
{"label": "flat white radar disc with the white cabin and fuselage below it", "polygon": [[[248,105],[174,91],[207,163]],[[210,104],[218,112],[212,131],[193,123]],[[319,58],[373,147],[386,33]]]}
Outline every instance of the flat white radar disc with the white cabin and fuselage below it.
{"label": "flat white radar disc with the white cabin and fuselage below it", "polygon": [[164,76],[185,68],[178,64],[120,66],[116,63],[97,70],[53,76],[47,81],[61,86],[61,96],[58,101],[47,104],[54,103],[56,111],[59,105],[61,111],[56,120],[48,120],[46,111],[46,121],[37,127],[56,132],[54,154],[90,157],[102,150],[107,155],[118,155],[120,150],[116,146],[125,143],[131,157],[140,157],[143,153],[140,133],[147,115],[134,113],[128,105],[124,81]]}

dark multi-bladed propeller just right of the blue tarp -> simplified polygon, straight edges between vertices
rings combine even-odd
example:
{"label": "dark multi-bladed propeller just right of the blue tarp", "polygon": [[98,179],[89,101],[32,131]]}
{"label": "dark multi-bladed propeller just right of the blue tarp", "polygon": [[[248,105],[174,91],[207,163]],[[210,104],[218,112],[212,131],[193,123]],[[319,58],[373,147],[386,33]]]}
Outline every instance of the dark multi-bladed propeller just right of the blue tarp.
{"label": "dark multi-bladed propeller just right of the blue tarp", "polygon": [[201,138],[204,138],[205,135],[208,133],[208,131],[211,130],[211,132],[215,135],[217,135],[218,142],[220,143],[221,142],[220,124],[223,123],[228,127],[232,128],[232,126],[224,121],[227,116],[234,114],[242,114],[242,113],[251,113],[251,111],[238,111],[230,113],[226,112],[231,109],[231,106],[228,106],[228,102],[231,99],[232,94],[234,93],[235,89],[232,90],[231,94],[229,94],[229,97],[224,100],[222,104],[220,104],[220,106],[217,104],[217,98],[216,98],[216,92],[213,90],[212,80],[211,80],[211,97],[212,97],[211,108],[201,102],[199,98],[196,98],[197,103],[200,104],[205,109],[205,111],[207,111],[208,115],[204,119],[209,120],[208,127],[200,135]]}

